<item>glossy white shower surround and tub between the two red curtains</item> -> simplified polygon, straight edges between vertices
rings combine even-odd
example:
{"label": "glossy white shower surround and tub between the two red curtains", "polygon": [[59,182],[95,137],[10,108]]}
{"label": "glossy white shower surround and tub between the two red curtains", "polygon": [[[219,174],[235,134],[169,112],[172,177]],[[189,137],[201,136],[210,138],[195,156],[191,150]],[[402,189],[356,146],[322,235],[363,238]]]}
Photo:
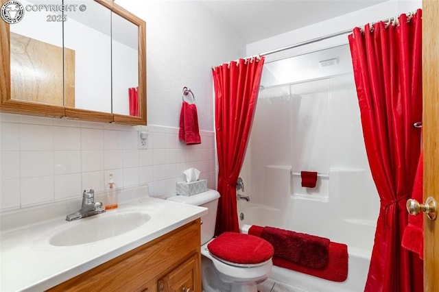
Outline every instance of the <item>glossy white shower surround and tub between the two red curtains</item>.
{"label": "glossy white shower surround and tub between the two red curtains", "polygon": [[[340,63],[349,58],[346,46],[335,53]],[[250,174],[244,178],[250,192],[246,188],[243,194],[251,202],[239,201],[241,224],[348,245],[344,282],[279,267],[272,270],[272,280],[305,291],[364,289],[379,196],[366,158],[352,73],[261,90],[243,171]],[[318,171],[315,188],[301,186],[300,171]]]}

